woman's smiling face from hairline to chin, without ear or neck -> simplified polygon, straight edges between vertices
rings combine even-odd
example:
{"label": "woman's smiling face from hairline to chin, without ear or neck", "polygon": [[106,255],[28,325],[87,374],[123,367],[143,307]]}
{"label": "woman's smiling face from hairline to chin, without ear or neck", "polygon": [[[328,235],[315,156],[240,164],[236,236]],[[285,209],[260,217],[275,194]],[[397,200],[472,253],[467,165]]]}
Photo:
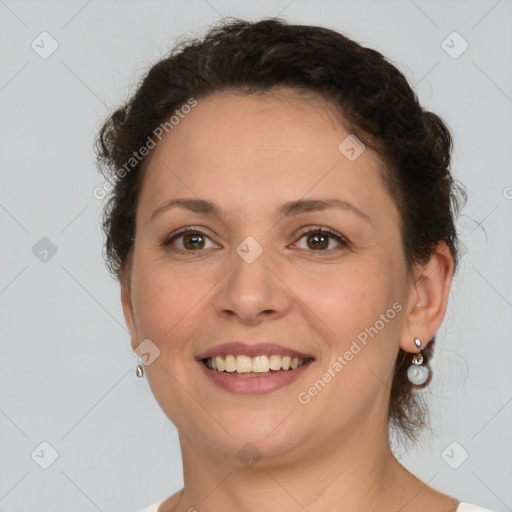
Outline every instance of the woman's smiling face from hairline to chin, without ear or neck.
{"label": "woman's smiling face from hairline to chin, without ear or neck", "polygon": [[[158,403],[205,454],[236,462],[252,443],[292,460],[299,445],[386,432],[410,289],[379,160],[350,139],[340,149],[349,135],[320,102],[225,93],[152,150],[123,308],[133,349],[151,342]],[[236,342],[248,347],[216,348]],[[243,376],[208,369],[215,354],[263,356],[238,358],[241,374],[309,362]]]}

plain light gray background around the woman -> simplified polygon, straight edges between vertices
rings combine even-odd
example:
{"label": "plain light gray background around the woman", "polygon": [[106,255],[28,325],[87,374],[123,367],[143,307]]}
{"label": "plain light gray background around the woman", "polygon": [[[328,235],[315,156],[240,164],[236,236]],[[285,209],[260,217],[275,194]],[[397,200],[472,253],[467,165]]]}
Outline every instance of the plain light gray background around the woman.
{"label": "plain light gray background around the woman", "polygon": [[[399,455],[459,500],[512,510],[510,0],[0,0],[2,512],[135,511],[181,488],[176,431],[135,377],[103,264],[93,137],[176,37],[279,14],[382,51],[455,134],[466,254],[433,361],[433,431]],[[59,45],[47,59],[30,46],[43,31]],[[453,31],[469,43],[456,59],[441,46]],[[57,247],[46,263],[42,237]],[[43,441],[48,469],[31,457],[50,461]]]}

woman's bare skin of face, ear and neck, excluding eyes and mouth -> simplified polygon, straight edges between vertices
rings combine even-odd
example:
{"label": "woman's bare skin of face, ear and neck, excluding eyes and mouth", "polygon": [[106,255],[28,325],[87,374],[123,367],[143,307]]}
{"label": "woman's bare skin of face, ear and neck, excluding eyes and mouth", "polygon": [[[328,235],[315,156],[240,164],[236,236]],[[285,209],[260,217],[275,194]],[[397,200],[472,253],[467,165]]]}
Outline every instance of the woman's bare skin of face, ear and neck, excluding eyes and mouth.
{"label": "woman's bare skin of face, ear and neck, excluding eyes and mouth", "polygon": [[[338,150],[349,133],[318,98],[216,93],[149,155],[121,299],[132,348],[150,339],[160,350],[145,375],[181,444],[185,485],[159,512],[252,512],[269,503],[281,512],[456,510],[457,500],[396,461],[386,422],[399,347],[415,353],[414,338],[438,330],[453,261],[439,244],[427,265],[407,273],[382,162],[369,148],[349,161]],[[150,219],[183,197],[212,201],[225,216],[175,208]],[[369,221],[331,208],[276,222],[284,203],[313,198],[343,199]],[[164,246],[187,226],[207,237],[198,250],[183,237]],[[318,227],[349,246],[331,238],[318,249],[299,231]],[[236,252],[248,236],[263,249],[252,263]],[[396,302],[401,312],[299,403],[298,393]],[[239,396],[213,385],[195,360],[220,343],[261,339],[315,362],[284,388]],[[252,467],[237,457],[248,442],[263,455]]]}

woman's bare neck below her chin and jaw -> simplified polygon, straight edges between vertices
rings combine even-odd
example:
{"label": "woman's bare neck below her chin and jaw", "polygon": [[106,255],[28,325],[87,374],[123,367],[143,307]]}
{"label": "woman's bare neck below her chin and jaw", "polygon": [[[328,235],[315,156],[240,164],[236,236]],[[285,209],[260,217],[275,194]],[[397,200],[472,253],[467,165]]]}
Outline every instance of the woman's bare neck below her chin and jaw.
{"label": "woman's bare neck below her chin and jaw", "polygon": [[344,439],[301,449],[300,458],[263,457],[252,467],[205,453],[182,435],[180,443],[185,486],[176,511],[406,512],[406,490],[417,481],[391,453],[387,427],[354,428]]}

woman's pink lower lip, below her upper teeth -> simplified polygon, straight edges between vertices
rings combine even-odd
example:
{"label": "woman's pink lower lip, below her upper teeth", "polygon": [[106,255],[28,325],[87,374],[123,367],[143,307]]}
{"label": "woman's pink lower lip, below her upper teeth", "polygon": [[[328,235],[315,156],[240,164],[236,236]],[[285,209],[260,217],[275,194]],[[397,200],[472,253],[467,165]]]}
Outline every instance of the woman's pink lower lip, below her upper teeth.
{"label": "woman's pink lower lip, below her upper teeth", "polygon": [[313,359],[296,370],[282,370],[264,377],[238,377],[234,373],[210,370],[203,361],[198,361],[206,376],[217,386],[234,395],[264,395],[272,393],[296,381],[311,365]]}

